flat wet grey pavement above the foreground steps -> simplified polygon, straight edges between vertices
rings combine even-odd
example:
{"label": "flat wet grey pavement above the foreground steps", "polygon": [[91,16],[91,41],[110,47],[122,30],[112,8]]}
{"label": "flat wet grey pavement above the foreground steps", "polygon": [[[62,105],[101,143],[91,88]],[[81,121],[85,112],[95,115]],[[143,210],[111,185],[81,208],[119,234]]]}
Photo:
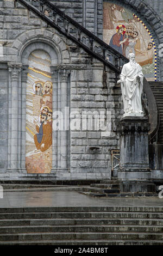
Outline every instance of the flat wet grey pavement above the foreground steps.
{"label": "flat wet grey pavement above the foreground steps", "polygon": [[163,206],[159,198],[92,198],[76,191],[4,192],[0,208],[57,206]]}

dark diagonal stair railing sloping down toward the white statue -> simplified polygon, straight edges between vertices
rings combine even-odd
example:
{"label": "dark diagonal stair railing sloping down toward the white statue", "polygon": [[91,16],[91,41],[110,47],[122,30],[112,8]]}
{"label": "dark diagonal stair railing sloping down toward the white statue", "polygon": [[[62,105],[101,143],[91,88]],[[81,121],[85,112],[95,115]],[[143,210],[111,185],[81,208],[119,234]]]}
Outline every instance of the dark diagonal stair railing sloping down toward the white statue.
{"label": "dark diagonal stair railing sloping down toward the white statue", "polygon": [[128,59],[47,0],[15,0],[118,74]]}

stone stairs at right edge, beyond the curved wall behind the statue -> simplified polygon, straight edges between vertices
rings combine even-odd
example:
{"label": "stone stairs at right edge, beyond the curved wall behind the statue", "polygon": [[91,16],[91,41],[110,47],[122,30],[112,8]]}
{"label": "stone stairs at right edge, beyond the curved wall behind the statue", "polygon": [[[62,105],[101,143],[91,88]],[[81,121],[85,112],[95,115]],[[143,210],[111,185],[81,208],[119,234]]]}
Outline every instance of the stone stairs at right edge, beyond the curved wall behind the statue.
{"label": "stone stairs at right edge, beyond the curved wall behind the statue", "polygon": [[158,144],[163,144],[163,83],[162,82],[149,82],[153,94],[155,96],[156,104],[159,110],[159,130],[158,130]]}

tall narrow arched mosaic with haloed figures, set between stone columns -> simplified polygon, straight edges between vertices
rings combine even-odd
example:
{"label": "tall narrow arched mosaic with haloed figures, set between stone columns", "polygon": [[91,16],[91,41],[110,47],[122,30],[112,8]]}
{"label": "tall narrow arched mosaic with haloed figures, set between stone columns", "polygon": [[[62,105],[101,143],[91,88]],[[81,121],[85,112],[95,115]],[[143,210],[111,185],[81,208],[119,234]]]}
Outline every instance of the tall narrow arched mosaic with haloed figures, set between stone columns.
{"label": "tall narrow arched mosaic with haloed figures, set between stone columns", "polygon": [[50,173],[52,169],[52,77],[51,58],[35,50],[28,58],[26,86],[27,173]]}

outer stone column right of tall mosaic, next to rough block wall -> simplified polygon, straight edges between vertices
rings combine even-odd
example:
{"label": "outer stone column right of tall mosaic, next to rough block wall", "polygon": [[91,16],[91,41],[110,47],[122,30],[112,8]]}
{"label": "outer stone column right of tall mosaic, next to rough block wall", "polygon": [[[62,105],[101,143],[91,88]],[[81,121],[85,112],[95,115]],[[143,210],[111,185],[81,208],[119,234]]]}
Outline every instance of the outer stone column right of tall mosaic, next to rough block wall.
{"label": "outer stone column right of tall mosaic, next to rough block wall", "polygon": [[[59,73],[61,81],[61,112],[64,115],[65,107],[67,107],[67,80],[70,71],[59,70]],[[64,120],[64,130],[61,131],[61,170],[67,169],[67,130],[65,121],[66,120]]]}

